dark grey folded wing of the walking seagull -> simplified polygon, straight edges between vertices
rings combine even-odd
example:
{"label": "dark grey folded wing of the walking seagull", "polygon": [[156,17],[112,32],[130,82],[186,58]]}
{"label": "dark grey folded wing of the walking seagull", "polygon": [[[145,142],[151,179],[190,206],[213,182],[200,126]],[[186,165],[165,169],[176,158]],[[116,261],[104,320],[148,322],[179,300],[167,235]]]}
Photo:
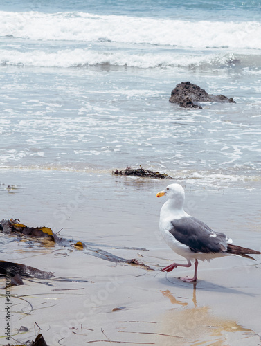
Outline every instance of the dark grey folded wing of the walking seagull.
{"label": "dark grey folded wing of the walking seagull", "polygon": [[227,248],[228,238],[224,233],[214,232],[195,217],[182,217],[179,220],[173,220],[172,229],[169,232],[195,253],[219,253],[226,251]]}

